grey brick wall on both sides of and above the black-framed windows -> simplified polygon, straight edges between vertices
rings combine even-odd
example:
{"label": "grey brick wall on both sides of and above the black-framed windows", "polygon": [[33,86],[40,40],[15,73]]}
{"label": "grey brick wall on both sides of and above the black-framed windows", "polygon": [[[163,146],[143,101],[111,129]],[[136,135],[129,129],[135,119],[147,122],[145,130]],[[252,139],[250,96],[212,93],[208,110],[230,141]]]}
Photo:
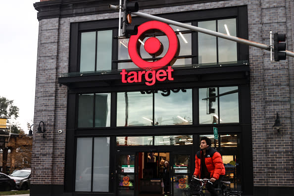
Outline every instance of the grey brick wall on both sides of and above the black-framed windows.
{"label": "grey brick wall on both sides of and above the black-framed windows", "polygon": [[[226,0],[140,10],[149,14],[248,6],[249,40],[269,44],[269,31],[287,32],[293,51],[294,0]],[[68,71],[71,22],[117,18],[118,13],[40,21],[34,122],[46,124],[46,139],[34,134],[32,184],[63,184],[67,88],[56,77]],[[294,61],[270,62],[269,52],[249,47],[254,186],[294,186]],[[276,112],[280,133],[272,128]],[[37,127],[37,126],[36,126]],[[57,130],[61,129],[62,134]]]}

